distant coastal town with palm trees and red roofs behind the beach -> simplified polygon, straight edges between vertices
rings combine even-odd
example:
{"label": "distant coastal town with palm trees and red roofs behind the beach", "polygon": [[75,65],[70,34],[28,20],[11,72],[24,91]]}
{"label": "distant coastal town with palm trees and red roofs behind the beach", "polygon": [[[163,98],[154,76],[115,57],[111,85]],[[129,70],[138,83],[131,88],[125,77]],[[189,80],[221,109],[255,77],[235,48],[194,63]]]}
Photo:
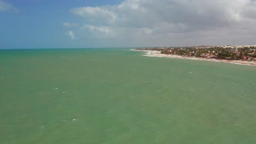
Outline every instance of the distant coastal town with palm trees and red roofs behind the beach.
{"label": "distant coastal town with palm trees and red roofs behind the beach", "polygon": [[151,47],[138,48],[136,50],[161,51],[163,55],[178,55],[182,57],[225,59],[228,61],[256,61],[256,45]]}

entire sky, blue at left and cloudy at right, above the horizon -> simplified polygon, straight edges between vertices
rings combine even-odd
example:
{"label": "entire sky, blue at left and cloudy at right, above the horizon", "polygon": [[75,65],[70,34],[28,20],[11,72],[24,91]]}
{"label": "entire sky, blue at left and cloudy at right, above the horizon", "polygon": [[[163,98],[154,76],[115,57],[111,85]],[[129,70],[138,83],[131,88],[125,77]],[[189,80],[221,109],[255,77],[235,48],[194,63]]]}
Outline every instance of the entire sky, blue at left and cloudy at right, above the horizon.
{"label": "entire sky, blue at left and cloudy at right, above the horizon", "polygon": [[255,0],[0,0],[0,49],[256,44]]}

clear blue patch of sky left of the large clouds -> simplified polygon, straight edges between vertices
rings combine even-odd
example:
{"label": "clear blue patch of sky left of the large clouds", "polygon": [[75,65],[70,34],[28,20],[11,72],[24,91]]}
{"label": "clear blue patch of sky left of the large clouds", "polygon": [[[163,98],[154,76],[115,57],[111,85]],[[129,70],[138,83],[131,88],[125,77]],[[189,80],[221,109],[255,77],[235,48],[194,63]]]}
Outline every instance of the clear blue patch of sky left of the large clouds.
{"label": "clear blue patch of sky left of the large clouds", "polygon": [[[13,5],[12,9],[0,11],[0,49],[26,48],[67,48],[90,47],[86,43],[67,37],[68,29],[63,22],[82,22],[69,13],[75,7],[96,7],[115,4],[120,1],[83,0],[9,0],[2,1]],[[93,46],[93,45],[92,45]]]}

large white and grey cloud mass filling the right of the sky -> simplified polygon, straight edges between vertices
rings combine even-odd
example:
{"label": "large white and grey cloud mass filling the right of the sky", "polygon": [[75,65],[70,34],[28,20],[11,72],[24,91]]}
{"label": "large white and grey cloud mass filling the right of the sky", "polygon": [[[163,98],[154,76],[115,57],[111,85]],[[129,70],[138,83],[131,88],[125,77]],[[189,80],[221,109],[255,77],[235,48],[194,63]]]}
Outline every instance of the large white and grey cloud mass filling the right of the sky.
{"label": "large white and grey cloud mass filling the right of the sky", "polygon": [[254,0],[125,0],[70,11],[86,20],[81,29],[128,38],[134,45],[222,44],[233,38],[255,43]]}

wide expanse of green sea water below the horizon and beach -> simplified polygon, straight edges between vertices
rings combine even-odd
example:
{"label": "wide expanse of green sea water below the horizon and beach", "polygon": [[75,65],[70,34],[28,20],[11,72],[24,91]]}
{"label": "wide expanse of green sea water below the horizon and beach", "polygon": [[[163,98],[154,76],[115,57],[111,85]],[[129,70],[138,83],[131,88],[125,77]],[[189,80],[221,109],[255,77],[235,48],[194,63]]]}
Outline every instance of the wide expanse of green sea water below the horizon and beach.
{"label": "wide expanse of green sea water below the horizon and beach", "polygon": [[0,143],[256,143],[256,67],[144,54],[0,51]]}

